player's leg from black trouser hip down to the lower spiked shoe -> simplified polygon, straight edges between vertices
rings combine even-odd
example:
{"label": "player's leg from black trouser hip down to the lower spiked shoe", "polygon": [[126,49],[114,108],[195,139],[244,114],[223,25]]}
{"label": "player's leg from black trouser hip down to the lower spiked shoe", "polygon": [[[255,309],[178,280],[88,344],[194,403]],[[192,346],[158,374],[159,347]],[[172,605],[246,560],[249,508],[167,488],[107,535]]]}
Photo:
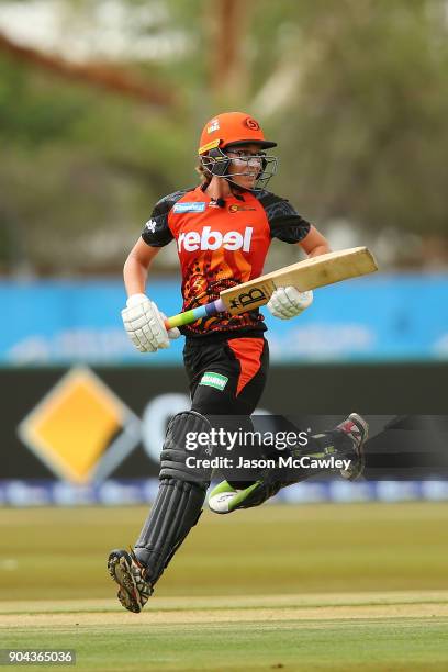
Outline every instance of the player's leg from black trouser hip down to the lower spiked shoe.
{"label": "player's leg from black trouser hip down to the lower spiked shoe", "polygon": [[[248,417],[261,395],[268,350],[262,338],[256,340],[258,343],[243,367],[225,341],[186,345],[184,363],[190,379],[192,410],[175,416],[168,426],[160,456],[159,491],[134,550],[119,549],[109,556],[109,572],[120,586],[119,600],[132,612],[142,611],[155,583],[202,511],[210,473],[187,467],[187,434],[210,430],[205,413],[224,416],[247,414]],[[242,371],[246,373],[243,382]],[[242,387],[243,383],[250,385],[251,394],[237,402],[238,384]],[[210,452],[206,457],[211,457]]]}

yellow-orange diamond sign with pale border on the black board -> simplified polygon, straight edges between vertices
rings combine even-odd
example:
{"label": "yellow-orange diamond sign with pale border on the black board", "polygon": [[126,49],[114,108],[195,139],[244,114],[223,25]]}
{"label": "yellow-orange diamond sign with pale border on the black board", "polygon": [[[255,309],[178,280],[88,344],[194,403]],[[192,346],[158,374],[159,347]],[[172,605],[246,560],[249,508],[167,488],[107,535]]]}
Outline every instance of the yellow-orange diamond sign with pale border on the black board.
{"label": "yellow-orange diamond sign with pale border on the black board", "polygon": [[75,368],[19,426],[52,471],[87,483],[107,477],[139,440],[139,419],[93,371]]}

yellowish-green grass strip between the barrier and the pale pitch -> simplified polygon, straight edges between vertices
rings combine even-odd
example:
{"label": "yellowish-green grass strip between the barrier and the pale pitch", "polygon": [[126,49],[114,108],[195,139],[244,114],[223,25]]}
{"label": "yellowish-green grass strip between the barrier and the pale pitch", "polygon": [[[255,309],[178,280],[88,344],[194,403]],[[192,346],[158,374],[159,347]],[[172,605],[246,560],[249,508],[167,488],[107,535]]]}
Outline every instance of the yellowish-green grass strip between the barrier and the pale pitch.
{"label": "yellowish-green grass strip between the barrier and the pale pitch", "polygon": [[[143,507],[0,509],[0,595],[109,597],[108,551],[133,544],[145,515]],[[445,503],[204,512],[157,593],[448,589],[447,529]]]}

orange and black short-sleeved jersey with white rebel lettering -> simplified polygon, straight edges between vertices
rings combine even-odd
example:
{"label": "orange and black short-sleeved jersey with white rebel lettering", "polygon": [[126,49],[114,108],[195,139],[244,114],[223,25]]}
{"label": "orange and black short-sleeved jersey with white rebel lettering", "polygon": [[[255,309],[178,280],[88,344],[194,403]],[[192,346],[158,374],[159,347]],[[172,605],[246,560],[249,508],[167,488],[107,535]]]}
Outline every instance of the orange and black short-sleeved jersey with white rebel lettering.
{"label": "orange and black short-sleeved jersey with white rebel lettering", "polygon": [[[183,311],[262,273],[272,238],[299,243],[310,231],[289,201],[269,191],[243,191],[216,202],[195,189],[176,191],[155,206],[142,237],[152,247],[176,240],[182,273]],[[183,326],[186,336],[264,332],[258,310],[222,313]]]}

